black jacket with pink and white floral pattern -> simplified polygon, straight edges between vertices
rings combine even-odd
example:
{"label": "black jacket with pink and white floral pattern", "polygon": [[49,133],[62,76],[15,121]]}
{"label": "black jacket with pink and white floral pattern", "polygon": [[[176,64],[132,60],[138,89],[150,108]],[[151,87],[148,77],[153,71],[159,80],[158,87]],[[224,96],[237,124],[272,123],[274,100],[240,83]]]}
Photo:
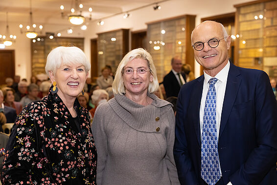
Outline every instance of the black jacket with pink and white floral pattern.
{"label": "black jacket with pink and white floral pattern", "polygon": [[23,109],[6,147],[3,184],[96,184],[97,153],[89,112],[77,98],[74,109],[78,121],[52,93]]}

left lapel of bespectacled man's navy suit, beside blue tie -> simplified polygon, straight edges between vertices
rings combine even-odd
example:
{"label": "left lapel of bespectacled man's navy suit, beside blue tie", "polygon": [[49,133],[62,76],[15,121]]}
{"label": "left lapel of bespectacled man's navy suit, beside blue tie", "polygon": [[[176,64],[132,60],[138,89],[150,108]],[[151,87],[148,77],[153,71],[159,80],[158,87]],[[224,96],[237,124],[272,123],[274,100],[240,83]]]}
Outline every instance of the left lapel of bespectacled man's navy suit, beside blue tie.
{"label": "left lapel of bespectacled man's navy suit, beside blue tie", "polygon": [[198,140],[199,145],[201,146],[201,138],[200,138],[200,103],[201,103],[201,97],[202,97],[202,91],[203,91],[203,83],[204,83],[204,75],[200,76],[197,80],[198,83],[195,85],[191,99],[190,99],[190,105],[191,105],[191,113],[193,113],[193,124],[195,129],[195,134]]}

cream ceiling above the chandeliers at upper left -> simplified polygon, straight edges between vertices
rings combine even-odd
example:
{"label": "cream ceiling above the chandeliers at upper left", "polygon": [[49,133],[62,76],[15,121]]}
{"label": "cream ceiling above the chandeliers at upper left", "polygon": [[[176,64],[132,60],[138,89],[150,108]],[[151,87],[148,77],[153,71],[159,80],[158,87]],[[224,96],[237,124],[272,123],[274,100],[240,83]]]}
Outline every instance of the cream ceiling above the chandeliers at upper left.
{"label": "cream ceiling above the chandeliers at upper left", "polygon": [[[82,3],[84,6],[82,15],[86,18],[86,22],[98,21],[107,16],[153,5],[156,2],[159,0],[78,0],[78,4]],[[65,7],[63,17],[60,5]],[[75,8],[75,0],[32,0],[31,7],[33,23],[70,25],[67,18],[71,13],[70,9]],[[92,12],[88,10],[90,7]],[[0,22],[6,22],[6,12],[8,12],[9,23],[30,23],[30,0],[0,0]]]}

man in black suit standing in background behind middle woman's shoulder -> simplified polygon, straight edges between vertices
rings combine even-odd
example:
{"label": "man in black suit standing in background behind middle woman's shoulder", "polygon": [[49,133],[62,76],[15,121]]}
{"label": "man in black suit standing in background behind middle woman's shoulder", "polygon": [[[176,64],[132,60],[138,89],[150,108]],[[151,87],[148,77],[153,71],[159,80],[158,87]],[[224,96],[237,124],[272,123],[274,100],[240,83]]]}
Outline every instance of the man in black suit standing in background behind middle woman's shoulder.
{"label": "man in black suit standing in background behind middle woman's shoulder", "polygon": [[182,60],[179,57],[171,59],[171,71],[163,78],[166,97],[178,96],[180,88],[185,84],[185,74],[181,72]]}

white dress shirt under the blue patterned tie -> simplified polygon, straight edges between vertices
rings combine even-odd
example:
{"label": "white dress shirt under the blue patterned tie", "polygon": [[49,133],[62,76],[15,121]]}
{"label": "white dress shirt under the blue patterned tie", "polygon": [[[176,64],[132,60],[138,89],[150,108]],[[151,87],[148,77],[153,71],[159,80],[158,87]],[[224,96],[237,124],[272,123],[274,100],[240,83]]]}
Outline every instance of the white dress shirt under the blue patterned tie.
{"label": "white dress shirt under the blue patterned tie", "polygon": [[[215,91],[216,91],[216,130],[217,130],[217,141],[219,136],[219,128],[220,128],[220,120],[221,120],[221,113],[222,113],[222,107],[223,107],[223,101],[225,96],[225,90],[226,90],[226,84],[227,84],[227,78],[228,73],[230,69],[230,61],[228,61],[227,65],[219,71],[215,75],[215,78],[217,78],[217,82],[215,83]],[[201,98],[201,104],[200,104],[200,132],[201,132],[201,140],[202,140],[202,128],[203,128],[203,118],[204,118],[204,108],[206,103],[206,97],[208,94],[208,88],[209,88],[209,79],[211,79],[212,76],[208,75],[204,71],[204,84],[203,84],[203,92],[202,92],[202,98]],[[220,163],[219,163],[220,167]],[[220,176],[222,176],[221,169],[220,169]],[[231,185],[231,184],[228,184]]]}

